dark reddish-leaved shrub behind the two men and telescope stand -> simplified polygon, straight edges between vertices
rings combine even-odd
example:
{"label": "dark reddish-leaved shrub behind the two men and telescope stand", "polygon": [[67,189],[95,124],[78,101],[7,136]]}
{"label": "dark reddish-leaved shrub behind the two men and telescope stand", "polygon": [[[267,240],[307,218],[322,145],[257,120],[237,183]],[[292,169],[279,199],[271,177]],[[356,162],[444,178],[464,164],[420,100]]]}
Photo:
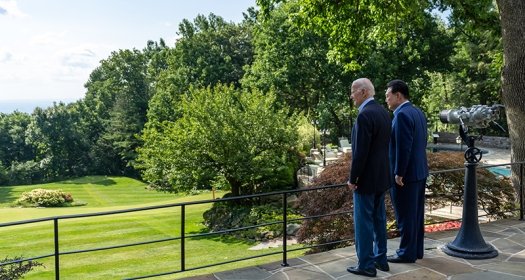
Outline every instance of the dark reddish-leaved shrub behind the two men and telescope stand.
{"label": "dark reddish-leaved shrub behind the two men and telescope stand", "polygon": [[[428,153],[430,170],[445,170],[464,168],[464,158],[461,152]],[[328,186],[346,184],[348,172],[351,165],[351,156],[345,157],[330,164],[309,185]],[[514,209],[515,191],[508,179],[500,179],[486,169],[477,170],[477,187],[479,205],[493,217],[506,217],[508,211]],[[427,180],[427,205],[432,208],[440,208],[446,204],[462,204],[464,172],[451,172],[431,175]],[[387,227],[393,228],[395,216],[390,202],[390,195],[385,196],[387,210]],[[308,219],[303,221],[297,233],[299,242],[308,244],[322,244],[340,240],[353,240],[354,218],[353,218],[353,192],[346,187],[333,188],[321,191],[304,192],[297,200],[297,207],[304,216],[323,215],[349,211],[348,214],[327,216],[319,219]],[[390,236],[396,232],[390,231]],[[309,253],[331,250],[337,247],[351,245],[347,243],[336,243],[320,246],[312,249]]]}

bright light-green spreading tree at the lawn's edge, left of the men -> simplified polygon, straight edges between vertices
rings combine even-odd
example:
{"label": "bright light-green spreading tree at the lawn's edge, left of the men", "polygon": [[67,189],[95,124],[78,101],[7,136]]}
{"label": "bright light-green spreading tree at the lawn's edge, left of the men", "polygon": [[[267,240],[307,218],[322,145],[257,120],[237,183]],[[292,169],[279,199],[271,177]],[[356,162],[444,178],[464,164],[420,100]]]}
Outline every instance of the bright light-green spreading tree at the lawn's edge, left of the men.
{"label": "bright light-green spreading tree at the lawn's edge, left of the men", "polygon": [[191,88],[181,118],[163,133],[146,129],[137,168],[154,185],[174,191],[226,181],[233,195],[293,185],[294,118],[275,97],[234,86]]}

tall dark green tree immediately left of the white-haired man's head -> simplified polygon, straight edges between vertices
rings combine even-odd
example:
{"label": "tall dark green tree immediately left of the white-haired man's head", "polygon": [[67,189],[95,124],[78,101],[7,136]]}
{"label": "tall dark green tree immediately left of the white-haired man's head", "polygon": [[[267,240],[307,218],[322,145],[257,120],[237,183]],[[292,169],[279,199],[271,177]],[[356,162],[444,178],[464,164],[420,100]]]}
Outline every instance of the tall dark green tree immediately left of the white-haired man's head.
{"label": "tall dark green tree immediately left of the white-haired man's head", "polygon": [[301,112],[333,135],[348,135],[350,77],[327,58],[328,36],[301,30],[297,1],[284,3],[254,26],[254,62],[243,87],[274,91],[280,106]]}

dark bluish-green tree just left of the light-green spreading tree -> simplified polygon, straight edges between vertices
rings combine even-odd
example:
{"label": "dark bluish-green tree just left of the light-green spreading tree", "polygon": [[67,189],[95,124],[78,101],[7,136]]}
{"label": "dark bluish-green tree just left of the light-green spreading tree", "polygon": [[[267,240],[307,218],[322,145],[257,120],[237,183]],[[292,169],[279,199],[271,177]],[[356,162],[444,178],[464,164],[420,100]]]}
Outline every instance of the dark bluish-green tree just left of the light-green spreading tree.
{"label": "dark bluish-green tree just left of the light-green spreading tree", "polygon": [[90,155],[97,173],[137,176],[131,163],[140,145],[136,135],[146,123],[150,82],[154,80],[148,65],[156,57],[154,52],[161,50],[149,44],[148,56],[138,50],[113,52],[91,73],[83,101],[88,113],[83,122],[90,127]]}

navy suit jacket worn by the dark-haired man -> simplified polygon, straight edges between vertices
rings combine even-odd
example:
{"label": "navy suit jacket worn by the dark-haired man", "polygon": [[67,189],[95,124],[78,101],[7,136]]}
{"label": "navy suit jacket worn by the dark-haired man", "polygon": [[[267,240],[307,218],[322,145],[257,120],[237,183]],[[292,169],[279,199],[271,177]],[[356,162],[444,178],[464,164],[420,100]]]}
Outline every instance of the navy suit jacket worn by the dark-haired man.
{"label": "navy suit jacket worn by the dark-haired man", "polygon": [[427,120],[419,108],[408,102],[401,106],[392,122],[390,165],[394,175],[405,183],[428,176]]}

